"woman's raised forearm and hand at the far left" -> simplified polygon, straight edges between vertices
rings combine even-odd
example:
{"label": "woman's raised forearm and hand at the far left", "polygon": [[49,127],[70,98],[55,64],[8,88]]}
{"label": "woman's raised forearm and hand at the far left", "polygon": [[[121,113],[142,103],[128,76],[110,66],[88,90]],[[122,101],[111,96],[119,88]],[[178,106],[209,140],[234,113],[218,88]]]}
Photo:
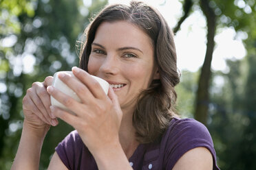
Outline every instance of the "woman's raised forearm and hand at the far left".
{"label": "woman's raised forearm and hand at the far left", "polygon": [[24,122],[17,154],[12,169],[39,169],[43,140],[50,125],[58,121],[50,115],[50,95],[46,88],[52,84],[53,77],[44,82],[35,82],[23,97]]}

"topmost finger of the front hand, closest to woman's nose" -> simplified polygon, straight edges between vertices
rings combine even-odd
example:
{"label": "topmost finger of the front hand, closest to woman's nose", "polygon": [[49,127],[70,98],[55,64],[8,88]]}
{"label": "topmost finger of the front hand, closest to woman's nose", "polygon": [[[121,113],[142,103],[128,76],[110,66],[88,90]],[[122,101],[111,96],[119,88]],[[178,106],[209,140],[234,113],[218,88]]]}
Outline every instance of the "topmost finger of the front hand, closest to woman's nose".
{"label": "topmost finger of the front hand, closest to woman's nose", "polygon": [[105,99],[107,97],[98,81],[95,80],[91,75],[89,75],[89,73],[87,73],[83,69],[79,69],[76,66],[72,68],[72,71],[74,75],[78,77],[78,79],[81,80],[81,82],[85,84],[85,86],[87,86],[87,88],[91,91],[94,97],[96,97],[97,99]]}

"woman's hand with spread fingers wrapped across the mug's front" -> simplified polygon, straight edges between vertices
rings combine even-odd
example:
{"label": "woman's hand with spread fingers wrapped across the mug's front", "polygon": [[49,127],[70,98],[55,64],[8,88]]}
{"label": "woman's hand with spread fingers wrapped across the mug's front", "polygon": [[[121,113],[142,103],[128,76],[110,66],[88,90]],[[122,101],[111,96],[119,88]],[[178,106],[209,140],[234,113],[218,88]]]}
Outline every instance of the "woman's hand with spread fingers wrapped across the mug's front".
{"label": "woman's hand with spread fingers wrapped across the mug's front", "polygon": [[58,76],[74,90],[81,103],[52,86],[48,86],[47,91],[76,115],[55,106],[51,106],[52,114],[72,125],[92,154],[103,151],[106,146],[118,145],[122,110],[114,90],[109,88],[108,95],[105,95],[89,73],[77,67],[72,71],[78,80],[65,73]]}

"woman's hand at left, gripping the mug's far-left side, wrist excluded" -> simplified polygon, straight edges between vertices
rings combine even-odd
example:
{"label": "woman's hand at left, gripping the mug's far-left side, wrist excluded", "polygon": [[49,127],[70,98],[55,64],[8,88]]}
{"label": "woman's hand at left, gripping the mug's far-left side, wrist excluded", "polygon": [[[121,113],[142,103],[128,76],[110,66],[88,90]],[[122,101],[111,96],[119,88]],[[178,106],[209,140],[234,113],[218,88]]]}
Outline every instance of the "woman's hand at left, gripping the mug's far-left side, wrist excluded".
{"label": "woman's hand at left, gripping the mug's far-left side, wrist excluded", "polygon": [[[50,95],[47,86],[52,84],[53,77],[45,78],[44,82],[34,82],[23,97],[24,123],[35,129],[49,129],[50,125],[57,125],[56,119],[50,117]],[[47,127],[47,128],[45,128]]]}

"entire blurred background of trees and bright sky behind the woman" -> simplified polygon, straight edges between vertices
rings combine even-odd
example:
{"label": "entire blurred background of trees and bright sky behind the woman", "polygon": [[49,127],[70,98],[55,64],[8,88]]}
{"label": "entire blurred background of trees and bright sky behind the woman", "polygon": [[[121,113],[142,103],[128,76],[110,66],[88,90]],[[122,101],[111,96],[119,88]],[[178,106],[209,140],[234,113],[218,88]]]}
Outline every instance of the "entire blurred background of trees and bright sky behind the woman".
{"label": "entire blurred background of trees and bright sky behind the woman", "polygon": [[[107,0],[0,0],[0,169],[10,169],[32,82],[78,65],[83,30]],[[127,3],[128,1],[123,1]],[[175,33],[177,110],[204,123],[221,169],[256,169],[256,1],[146,1]],[[71,131],[51,127],[39,169]]]}

